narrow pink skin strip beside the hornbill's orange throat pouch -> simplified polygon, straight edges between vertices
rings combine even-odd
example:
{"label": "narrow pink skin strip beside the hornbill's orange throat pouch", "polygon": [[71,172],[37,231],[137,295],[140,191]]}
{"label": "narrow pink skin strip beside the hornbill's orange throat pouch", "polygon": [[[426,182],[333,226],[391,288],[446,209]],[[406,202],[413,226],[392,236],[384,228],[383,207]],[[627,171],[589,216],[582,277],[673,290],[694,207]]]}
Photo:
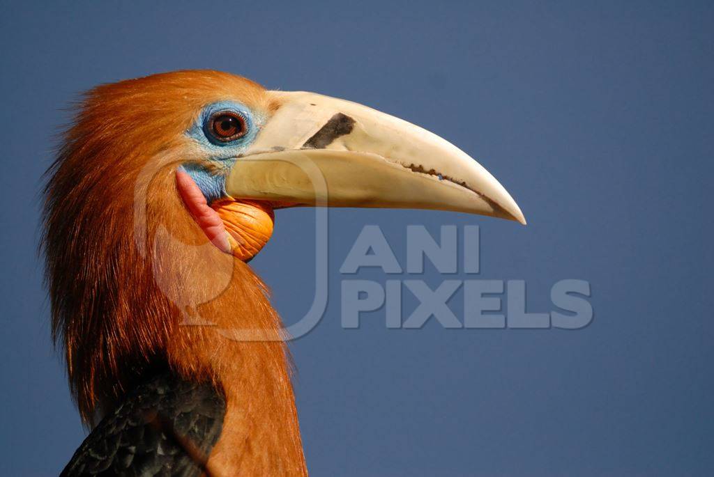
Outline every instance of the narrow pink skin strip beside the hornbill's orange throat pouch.
{"label": "narrow pink skin strip beside the hornbill's orange throat pouch", "polygon": [[178,189],[178,194],[181,195],[181,199],[183,199],[183,203],[186,204],[188,212],[191,213],[193,220],[196,220],[208,240],[213,245],[216,245],[219,250],[231,253],[231,244],[228,242],[226,226],[223,225],[223,220],[221,220],[218,212],[208,205],[206,197],[203,196],[201,189],[198,188],[191,175],[188,175],[183,170],[176,170],[176,188]]}

